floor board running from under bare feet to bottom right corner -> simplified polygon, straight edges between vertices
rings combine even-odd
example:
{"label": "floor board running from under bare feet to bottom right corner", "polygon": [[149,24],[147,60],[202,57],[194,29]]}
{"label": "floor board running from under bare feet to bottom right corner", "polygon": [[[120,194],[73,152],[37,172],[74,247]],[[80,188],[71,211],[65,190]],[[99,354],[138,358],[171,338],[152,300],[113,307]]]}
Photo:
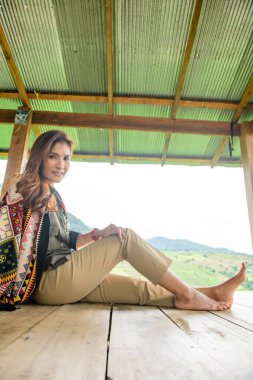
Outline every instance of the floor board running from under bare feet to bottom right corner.
{"label": "floor board running from under bare feet to bottom right corner", "polygon": [[178,327],[231,379],[253,379],[253,333],[215,314],[183,310],[164,310]]}

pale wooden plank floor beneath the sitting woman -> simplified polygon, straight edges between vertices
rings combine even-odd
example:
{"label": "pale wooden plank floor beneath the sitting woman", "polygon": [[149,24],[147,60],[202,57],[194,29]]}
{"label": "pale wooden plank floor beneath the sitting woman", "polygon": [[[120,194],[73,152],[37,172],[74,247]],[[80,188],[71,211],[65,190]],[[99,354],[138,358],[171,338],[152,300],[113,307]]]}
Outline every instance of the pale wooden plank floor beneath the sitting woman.
{"label": "pale wooden plank floor beneath the sitting woman", "polygon": [[253,292],[226,312],[24,305],[0,313],[0,379],[252,380]]}

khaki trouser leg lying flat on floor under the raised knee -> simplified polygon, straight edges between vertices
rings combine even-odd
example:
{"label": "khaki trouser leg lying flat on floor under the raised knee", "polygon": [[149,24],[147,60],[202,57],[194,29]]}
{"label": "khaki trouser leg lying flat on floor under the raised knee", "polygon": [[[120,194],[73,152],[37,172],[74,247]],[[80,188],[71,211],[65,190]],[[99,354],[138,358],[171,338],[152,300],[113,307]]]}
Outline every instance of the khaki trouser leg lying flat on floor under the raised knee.
{"label": "khaki trouser leg lying flat on floor under the raised knee", "polygon": [[174,295],[150,281],[110,273],[81,302],[174,307]]}

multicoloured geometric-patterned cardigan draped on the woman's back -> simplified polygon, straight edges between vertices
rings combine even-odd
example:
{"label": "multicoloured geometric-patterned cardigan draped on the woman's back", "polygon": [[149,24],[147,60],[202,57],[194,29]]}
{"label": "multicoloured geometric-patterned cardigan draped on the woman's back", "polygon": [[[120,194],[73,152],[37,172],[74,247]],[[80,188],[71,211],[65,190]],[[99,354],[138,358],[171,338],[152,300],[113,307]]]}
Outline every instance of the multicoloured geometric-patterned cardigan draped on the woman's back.
{"label": "multicoloured geometric-patterned cardigan draped on the woman's back", "polygon": [[[70,231],[70,248],[76,249],[78,235]],[[0,305],[30,299],[43,272],[48,239],[48,213],[26,209],[12,186],[0,202]]]}

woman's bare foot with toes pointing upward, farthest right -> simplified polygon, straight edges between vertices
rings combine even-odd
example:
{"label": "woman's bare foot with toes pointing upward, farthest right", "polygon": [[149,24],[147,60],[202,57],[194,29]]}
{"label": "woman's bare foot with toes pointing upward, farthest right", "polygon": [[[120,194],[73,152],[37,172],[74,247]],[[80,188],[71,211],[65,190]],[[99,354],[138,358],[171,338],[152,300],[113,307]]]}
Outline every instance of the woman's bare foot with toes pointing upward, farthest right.
{"label": "woman's bare foot with toes pointing upward, farthest right", "polygon": [[229,302],[230,306],[232,306],[234,292],[238,286],[243,283],[245,278],[246,266],[242,263],[240,271],[234,277],[220,285],[210,286],[208,288],[198,288],[197,290],[216,301]]}

